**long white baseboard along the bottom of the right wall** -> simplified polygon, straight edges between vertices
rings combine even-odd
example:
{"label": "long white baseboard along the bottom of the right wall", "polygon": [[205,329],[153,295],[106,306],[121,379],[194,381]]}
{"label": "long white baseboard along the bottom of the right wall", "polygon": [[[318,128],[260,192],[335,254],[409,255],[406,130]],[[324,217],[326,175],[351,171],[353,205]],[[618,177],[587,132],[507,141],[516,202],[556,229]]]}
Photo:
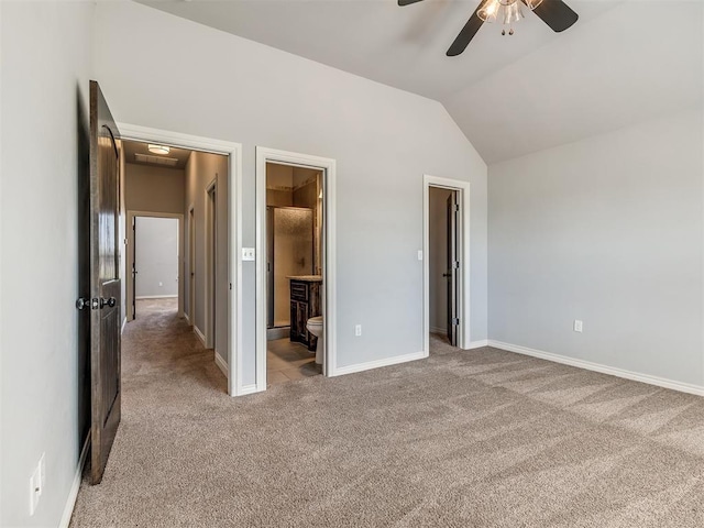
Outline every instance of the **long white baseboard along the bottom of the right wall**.
{"label": "long white baseboard along the bottom of the right wall", "polygon": [[515,352],[517,354],[530,355],[532,358],[539,358],[541,360],[552,361],[554,363],[562,363],[563,365],[576,366],[579,369],[601,372],[602,374],[609,374],[612,376],[623,377],[625,380],[631,380],[634,382],[647,383],[649,385],[670,388],[672,391],[679,391],[681,393],[704,396],[704,387],[700,385],[675,382],[672,380],[666,380],[664,377],[651,376],[649,374],[640,374],[623,369],[616,369],[614,366],[602,365],[600,363],[592,363],[591,361],[576,360],[573,358],[568,358],[565,355],[553,354],[552,352],[543,352],[541,350],[529,349],[528,346],[504,343],[502,341],[494,341],[492,339],[488,340],[488,345],[494,346],[495,349],[505,350],[507,352]]}

